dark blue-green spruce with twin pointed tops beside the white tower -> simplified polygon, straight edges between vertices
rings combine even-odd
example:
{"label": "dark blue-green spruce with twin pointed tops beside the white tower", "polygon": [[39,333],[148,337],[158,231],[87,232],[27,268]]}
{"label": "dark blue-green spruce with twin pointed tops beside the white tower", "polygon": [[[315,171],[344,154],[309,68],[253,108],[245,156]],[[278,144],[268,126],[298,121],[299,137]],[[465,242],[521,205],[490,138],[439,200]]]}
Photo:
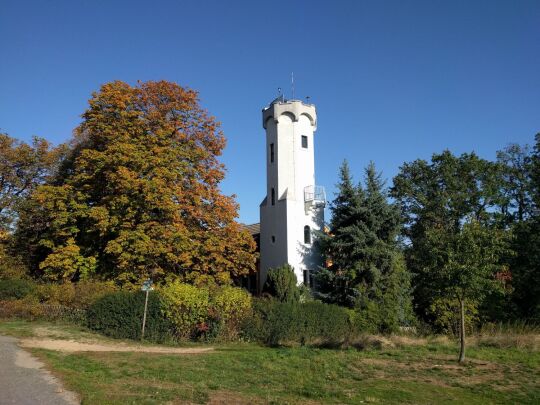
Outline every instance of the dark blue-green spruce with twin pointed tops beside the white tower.
{"label": "dark blue-green spruce with twin pointed tops beside the white tower", "polygon": [[411,315],[409,277],[397,242],[400,213],[388,202],[373,163],[364,184],[353,186],[344,162],[330,207],[330,229],[320,237],[330,265],[319,273],[318,294],[327,302],[358,308],[367,323],[389,331]]}

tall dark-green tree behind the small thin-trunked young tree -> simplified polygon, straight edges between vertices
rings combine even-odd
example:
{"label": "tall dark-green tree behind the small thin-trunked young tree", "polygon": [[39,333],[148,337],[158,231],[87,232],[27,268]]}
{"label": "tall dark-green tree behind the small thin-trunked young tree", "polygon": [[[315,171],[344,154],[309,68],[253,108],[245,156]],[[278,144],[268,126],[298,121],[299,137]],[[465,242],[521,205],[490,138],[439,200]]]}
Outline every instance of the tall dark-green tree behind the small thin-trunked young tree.
{"label": "tall dark-green tree behind the small thin-trunked young tree", "polygon": [[430,318],[434,263],[440,259],[433,245],[433,232],[458,237],[463,224],[473,219],[491,224],[501,202],[500,167],[474,153],[454,156],[449,151],[434,154],[431,162],[405,163],[394,178],[391,193],[401,205],[407,267],[413,273],[417,313]]}

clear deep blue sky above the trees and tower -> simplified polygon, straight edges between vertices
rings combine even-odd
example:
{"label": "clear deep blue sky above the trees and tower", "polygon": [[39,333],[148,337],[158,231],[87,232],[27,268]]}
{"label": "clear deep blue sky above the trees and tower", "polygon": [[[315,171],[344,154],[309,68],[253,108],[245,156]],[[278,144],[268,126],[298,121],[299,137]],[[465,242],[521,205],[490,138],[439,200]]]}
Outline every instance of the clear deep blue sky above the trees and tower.
{"label": "clear deep blue sky above the trees and tower", "polygon": [[311,96],[317,182],[341,161],[405,161],[449,148],[492,159],[540,131],[540,1],[24,1],[0,3],[0,129],[71,136],[92,91],[119,79],[200,91],[223,125],[240,219],[265,192],[261,109]]}

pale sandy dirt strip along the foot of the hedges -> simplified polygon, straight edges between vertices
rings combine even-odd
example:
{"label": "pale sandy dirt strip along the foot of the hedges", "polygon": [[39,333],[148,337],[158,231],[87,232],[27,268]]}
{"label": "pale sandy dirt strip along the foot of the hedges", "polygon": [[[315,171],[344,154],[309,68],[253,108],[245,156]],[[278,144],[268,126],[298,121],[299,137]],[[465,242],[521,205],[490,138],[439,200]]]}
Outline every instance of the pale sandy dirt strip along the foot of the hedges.
{"label": "pale sandy dirt strip along the foot of the hedges", "polygon": [[33,347],[40,349],[57,350],[61,352],[141,352],[141,353],[161,353],[161,354],[201,354],[213,351],[212,347],[165,347],[165,346],[143,346],[128,345],[125,343],[90,343],[77,342],[68,339],[21,339],[19,346]]}

